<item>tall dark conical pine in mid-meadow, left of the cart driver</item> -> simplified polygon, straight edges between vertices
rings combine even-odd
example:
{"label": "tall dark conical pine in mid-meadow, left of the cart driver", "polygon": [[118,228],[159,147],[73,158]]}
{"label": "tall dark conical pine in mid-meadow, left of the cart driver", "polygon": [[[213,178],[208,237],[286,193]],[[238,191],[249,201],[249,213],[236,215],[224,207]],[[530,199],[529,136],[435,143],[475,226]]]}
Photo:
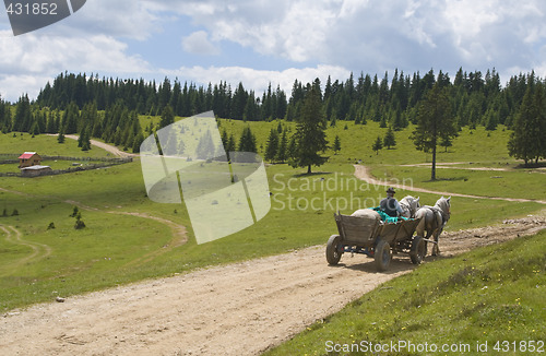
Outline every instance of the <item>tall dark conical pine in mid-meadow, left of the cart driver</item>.
{"label": "tall dark conical pine in mid-meadow, left of the cart driver", "polygon": [[328,149],[325,129],[327,120],[322,110],[320,81],[316,79],[308,87],[301,115],[297,120],[294,134],[296,147],[290,166],[307,167],[307,174],[311,174],[311,166],[321,166],[328,161],[328,157],[320,155]]}

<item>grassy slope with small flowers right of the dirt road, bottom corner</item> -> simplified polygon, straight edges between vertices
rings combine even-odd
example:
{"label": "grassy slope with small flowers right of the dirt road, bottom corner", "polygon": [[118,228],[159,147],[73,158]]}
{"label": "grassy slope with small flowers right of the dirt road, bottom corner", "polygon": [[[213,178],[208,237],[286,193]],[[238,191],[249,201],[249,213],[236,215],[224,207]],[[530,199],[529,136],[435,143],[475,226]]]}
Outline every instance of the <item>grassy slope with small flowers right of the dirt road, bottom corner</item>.
{"label": "grassy slope with small flowers right of the dirt road, bottom corner", "polygon": [[[490,354],[521,355],[530,353],[530,341],[535,351],[542,342],[544,352],[545,249],[543,230],[422,264],[264,355],[422,355],[434,354],[432,345],[442,355],[484,354],[478,343]],[[401,341],[414,349],[370,348]],[[419,352],[425,343],[428,352]],[[442,352],[442,345],[453,348]]]}

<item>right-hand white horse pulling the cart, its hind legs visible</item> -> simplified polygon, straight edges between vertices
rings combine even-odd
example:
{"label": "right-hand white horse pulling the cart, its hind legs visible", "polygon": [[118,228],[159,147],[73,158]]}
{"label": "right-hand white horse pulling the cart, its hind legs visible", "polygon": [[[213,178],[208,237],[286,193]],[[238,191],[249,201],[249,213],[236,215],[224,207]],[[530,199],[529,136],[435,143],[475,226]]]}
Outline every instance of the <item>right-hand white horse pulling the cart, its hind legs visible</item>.
{"label": "right-hand white horse pulling the cart, its hind legs visible", "polygon": [[[417,213],[415,213],[415,218],[420,218],[419,225],[417,225],[417,228],[415,229],[415,234],[426,239],[432,236],[435,239],[436,244],[432,247],[432,256],[440,253],[438,238],[451,216],[450,200],[451,197],[442,197],[438,199],[435,206],[425,205],[417,210]],[[424,236],[425,230],[427,232],[427,236]]]}

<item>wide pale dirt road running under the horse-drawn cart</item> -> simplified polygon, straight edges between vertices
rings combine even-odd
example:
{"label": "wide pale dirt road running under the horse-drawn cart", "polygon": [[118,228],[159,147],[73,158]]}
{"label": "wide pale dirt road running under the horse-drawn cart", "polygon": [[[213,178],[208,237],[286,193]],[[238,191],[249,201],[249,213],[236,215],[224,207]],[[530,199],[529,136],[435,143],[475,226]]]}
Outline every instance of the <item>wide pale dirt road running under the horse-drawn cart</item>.
{"label": "wide pale dirt road running under the horse-drawn cart", "polygon": [[[544,214],[442,235],[443,257],[546,227]],[[325,237],[327,238],[327,237]],[[0,317],[0,355],[258,355],[412,271],[324,246],[43,304]],[[54,296],[52,296],[54,298]]]}

